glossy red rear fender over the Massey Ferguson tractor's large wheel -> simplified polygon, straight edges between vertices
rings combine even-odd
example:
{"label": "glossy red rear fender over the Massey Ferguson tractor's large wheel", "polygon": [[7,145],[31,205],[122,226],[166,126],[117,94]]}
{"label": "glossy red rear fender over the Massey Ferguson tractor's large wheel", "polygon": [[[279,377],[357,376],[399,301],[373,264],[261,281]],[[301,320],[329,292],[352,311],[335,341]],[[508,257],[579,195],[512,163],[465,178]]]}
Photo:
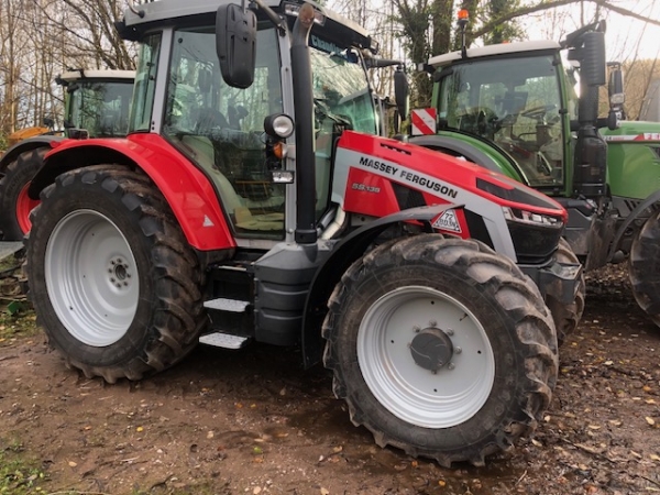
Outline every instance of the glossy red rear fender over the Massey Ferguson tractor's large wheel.
{"label": "glossy red rear fender over the Massey Ferguson tractor's large wheel", "polygon": [[199,251],[235,248],[209,179],[157,134],[67,140],[46,155],[44,166],[30,185],[29,195],[38,199],[40,191],[59,174],[99,164],[142,169],[167,200],[193,248]]}

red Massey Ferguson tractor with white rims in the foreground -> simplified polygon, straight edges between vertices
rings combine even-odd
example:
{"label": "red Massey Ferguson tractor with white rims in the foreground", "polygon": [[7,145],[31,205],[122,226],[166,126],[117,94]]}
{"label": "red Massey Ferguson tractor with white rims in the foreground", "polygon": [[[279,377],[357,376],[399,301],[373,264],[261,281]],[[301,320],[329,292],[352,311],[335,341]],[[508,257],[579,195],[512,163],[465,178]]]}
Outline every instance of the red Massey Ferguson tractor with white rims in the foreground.
{"label": "red Massey Ferguson tractor with white rims in the foreground", "polygon": [[118,24],[140,42],[129,135],[58,146],[29,191],[51,344],[110,383],[200,341],[300,345],[380,446],[483,464],[551,399],[543,298],[570,305],[581,276],[556,258],[565,210],[378,136],[367,70],[386,64],[360,26],[253,8],[161,0]]}

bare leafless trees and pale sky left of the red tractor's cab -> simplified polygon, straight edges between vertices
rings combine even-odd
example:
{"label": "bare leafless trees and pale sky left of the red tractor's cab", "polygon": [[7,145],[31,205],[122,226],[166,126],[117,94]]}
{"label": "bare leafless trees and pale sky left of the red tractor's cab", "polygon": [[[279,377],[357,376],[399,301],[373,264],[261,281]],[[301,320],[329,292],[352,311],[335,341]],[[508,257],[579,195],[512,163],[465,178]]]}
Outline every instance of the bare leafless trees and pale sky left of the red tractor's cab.
{"label": "bare leafless trees and pale sky left of the red tractor's cab", "polygon": [[53,81],[62,72],[134,67],[114,29],[124,8],[125,0],[0,2],[0,148],[15,130],[58,120],[63,95]]}

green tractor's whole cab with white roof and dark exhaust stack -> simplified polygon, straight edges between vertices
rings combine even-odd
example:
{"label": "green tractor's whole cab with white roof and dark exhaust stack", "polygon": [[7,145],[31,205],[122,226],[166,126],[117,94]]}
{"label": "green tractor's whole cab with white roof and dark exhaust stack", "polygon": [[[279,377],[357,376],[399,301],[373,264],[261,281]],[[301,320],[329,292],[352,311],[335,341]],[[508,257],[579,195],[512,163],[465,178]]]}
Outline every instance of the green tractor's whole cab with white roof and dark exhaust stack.
{"label": "green tractor's whole cab with white roof and dark exhaust stack", "polygon": [[604,31],[600,22],[561,43],[463,47],[431,57],[421,68],[435,82],[435,147],[469,160],[486,154],[493,169],[550,196],[603,195],[606,151],[598,128],[616,127],[598,119]]}

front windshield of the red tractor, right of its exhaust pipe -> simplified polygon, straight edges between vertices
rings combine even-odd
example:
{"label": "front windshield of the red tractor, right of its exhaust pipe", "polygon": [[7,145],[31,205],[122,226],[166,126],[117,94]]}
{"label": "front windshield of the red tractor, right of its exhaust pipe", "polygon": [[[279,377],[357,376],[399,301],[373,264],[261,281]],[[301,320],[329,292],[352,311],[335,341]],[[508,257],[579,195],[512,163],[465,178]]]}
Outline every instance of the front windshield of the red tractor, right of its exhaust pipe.
{"label": "front windshield of the red tractor, right of its exhaust pipe", "polygon": [[315,117],[343,122],[354,131],[377,134],[376,110],[366,73],[350,51],[311,50]]}

